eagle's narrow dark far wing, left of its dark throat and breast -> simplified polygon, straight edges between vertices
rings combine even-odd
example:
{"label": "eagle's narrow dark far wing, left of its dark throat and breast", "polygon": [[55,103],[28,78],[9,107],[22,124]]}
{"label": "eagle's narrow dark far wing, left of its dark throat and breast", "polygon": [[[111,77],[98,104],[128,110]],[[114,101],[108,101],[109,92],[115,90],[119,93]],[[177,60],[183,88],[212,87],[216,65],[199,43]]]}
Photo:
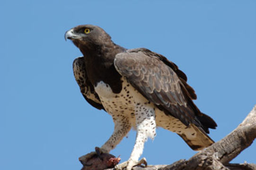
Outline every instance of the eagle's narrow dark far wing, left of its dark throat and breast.
{"label": "eagle's narrow dark far wing, left of its dark throat and breast", "polygon": [[94,90],[94,86],[88,79],[84,57],[78,57],[73,61],[73,72],[85,100],[93,107],[105,110],[98,94]]}

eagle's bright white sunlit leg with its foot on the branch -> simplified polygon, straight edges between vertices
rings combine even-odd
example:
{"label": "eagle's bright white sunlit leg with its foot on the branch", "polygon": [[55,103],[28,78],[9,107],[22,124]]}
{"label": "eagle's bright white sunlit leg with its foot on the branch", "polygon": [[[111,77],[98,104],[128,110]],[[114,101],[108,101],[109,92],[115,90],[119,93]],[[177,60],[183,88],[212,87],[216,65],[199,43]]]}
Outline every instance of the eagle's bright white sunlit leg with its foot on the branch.
{"label": "eagle's bright white sunlit leg with its foot on the branch", "polygon": [[116,170],[122,170],[126,167],[126,170],[132,170],[133,166],[140,165],[141,163],[147,164],[146,159],[138,161],[144,148],[144,143],[148,137],[153,139],[156,136],[156,121],[155,111],[150,104],[148,105],[136,105],[135,109],[137,136],[136,141],[128,161],[123,162],[115,166]]}

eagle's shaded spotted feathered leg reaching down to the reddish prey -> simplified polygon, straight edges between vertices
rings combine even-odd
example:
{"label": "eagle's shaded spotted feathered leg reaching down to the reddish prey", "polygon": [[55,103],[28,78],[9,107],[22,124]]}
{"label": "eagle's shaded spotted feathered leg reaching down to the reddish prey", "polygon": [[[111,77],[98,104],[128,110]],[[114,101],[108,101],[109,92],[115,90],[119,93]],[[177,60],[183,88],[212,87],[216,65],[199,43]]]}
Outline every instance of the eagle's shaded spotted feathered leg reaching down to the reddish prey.
{"label": "eagle's shaded spotted feathered leg reaching down to the reddish prey", "polygon": [[115,128],[113,134],[100,148],[104,153],[109,153],[112,149],[114,149],[115,146],[119,144],[124,136],[126,136],[131,130],[129,118],[124,117],[123,115],[119,116],[118,119],[114,119],[114,123]]}

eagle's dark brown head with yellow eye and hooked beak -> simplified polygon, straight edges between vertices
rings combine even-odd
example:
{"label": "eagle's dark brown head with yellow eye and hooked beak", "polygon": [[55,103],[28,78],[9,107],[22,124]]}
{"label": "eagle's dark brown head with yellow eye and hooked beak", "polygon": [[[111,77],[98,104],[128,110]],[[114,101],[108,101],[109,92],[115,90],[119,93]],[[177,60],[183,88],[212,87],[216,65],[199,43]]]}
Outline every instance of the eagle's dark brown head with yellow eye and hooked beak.
{"label": "eagle's dark brown head with yellow eye and hooked beak", "polygon": [[65,40],[70,39],[80,50],[113,44],[111,37],[99,26],[80,25],[65,33]]}

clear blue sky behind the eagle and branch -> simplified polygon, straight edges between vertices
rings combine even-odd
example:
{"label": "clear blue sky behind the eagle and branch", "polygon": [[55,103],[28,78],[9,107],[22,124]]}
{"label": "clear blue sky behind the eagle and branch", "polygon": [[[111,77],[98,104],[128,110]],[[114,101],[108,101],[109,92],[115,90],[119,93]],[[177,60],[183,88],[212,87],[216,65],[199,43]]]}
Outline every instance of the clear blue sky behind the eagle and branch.
{"label": "clear blue sky behind the eagle and branch", "polygon": [[[111,117],[83,99],[73,77],[81,53],[64,33],[81,24],[175,62],[194,87],[197,106],[217,122],[210,133],[215,141],[238,126],[256,104],[256,1],[159,1],[1,1],[1,170],[79,170],[79,156],[111,135]],[[134,141],[131,131],[111,153],[127,160]],[[195,153],[158,129],[142,156],[149,164],[170,164]],[[252,144],[234,162],[255,158]]]}

